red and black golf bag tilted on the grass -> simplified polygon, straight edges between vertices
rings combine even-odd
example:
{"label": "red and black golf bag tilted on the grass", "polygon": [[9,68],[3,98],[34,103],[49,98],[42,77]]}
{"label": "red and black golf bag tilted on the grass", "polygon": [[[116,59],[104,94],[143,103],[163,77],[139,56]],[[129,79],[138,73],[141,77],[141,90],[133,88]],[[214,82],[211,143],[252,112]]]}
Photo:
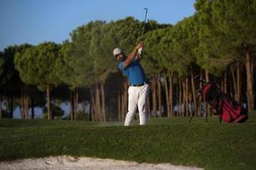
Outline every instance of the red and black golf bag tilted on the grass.
{"label": "red and black golf bag tilted on the grass", "polygon": [[212,106],[220,122],[247,121],[247,109],[231,99],[229,94],[224,94],[216,82],[205,82],[200,91],[202,100]]}

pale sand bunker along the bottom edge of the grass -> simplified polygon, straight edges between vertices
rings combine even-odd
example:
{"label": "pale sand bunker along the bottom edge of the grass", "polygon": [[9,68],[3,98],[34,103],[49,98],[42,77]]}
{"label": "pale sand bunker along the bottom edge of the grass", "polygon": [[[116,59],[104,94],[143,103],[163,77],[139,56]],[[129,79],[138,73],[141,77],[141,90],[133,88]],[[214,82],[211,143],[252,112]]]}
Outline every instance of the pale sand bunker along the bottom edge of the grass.
{"label": "pale sand bunker along the bottom edge of the grass", "polygon": [[148,164],[135,161],[117,161],[111,159],[98,159],[89,157],[51,156],[45,158],[22,159],[16,161],[0,162],[1,170],[69,170],[69,169],[111,169],[111,170],[199,170],[197,167],[174,166],[169,163]]}

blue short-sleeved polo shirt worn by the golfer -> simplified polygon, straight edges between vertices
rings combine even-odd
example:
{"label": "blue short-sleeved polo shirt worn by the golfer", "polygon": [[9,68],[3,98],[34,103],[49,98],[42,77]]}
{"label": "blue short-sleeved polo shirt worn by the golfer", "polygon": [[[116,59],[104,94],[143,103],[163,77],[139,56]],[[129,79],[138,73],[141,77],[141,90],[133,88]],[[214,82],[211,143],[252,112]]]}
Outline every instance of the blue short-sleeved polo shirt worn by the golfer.
{"label": "blue short-sleeved polo shirt worn by the golfer", "polygon": [[130,84],[142,84],[143,82],[147,82],[143,67],[136,59],[131,61],[131,64],[125,69],[123,68],[123,64],[124,61],[119,62],[119,70],[128,77]]}

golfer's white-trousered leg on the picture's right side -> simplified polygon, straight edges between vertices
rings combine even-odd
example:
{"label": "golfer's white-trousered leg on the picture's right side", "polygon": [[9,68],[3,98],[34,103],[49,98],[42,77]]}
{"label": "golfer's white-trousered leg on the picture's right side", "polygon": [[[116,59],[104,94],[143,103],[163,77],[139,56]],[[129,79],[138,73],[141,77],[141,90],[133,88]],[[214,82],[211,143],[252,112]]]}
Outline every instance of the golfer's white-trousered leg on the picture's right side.
{"label": "golfer's white-trousered leg on the picture's right side", "polygon": [[147,107],[147,98],[149,93],[149,85],[145,84],[140,92],[139,99],[138,99],[138,111],[139,111],[139,117],[140,117],[140,125],[144,125],[147,122],[147,113],[146,113],[146,107]]}

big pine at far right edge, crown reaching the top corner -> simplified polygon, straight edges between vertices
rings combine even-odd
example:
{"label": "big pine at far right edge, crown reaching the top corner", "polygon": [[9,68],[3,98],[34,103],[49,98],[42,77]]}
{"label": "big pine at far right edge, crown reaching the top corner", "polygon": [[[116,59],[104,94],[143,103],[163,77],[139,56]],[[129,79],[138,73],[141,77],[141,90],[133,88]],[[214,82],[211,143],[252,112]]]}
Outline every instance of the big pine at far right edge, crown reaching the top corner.
{"label": "big pine at far right edge, crown reaching the top corner", "polygon": [[[239,12],[238,12],[239,11]],[[256,49],[256,0],[216,1],[212,3],[212,23],[229,47],[245,60],[248,110],[255,109],[253,95],[253,51]],[[229,50],[229,49],[227,49]],[[227,51],[224,51],[227,54]],[[237,56],[237,53],[236,53]],[[240,57],[241,58],[241,57]],[[238,59],[237,59],[238,60]]]}

